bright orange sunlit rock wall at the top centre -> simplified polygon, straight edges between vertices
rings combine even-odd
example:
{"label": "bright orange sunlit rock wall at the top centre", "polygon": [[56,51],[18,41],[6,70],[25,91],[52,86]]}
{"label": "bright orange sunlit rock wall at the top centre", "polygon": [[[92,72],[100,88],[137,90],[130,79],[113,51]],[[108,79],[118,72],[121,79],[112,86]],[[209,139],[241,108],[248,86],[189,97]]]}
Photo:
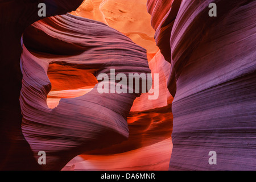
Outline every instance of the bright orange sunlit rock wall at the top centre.
{"label": "bright orange sunlit rock wall at the top centre", "polygon": [[147,0],[85,0],[71,14],[97,20],[115,28],[147,49],[147,58],[150,61],[159,48],[155,43],[155,31],[151,27],[151,16],[147,13],[146,3]]}

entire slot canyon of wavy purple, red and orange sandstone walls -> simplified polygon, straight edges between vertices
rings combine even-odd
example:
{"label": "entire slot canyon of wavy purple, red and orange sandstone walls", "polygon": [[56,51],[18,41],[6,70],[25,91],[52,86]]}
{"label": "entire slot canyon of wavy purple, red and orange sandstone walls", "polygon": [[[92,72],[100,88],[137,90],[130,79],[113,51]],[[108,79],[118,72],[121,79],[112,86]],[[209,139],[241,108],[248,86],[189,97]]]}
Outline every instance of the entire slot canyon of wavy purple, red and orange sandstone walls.
{"label": "entire slot canyon of wavy purple, red and orange sandstone walls", "polygon": [[[253,0],[0,1],[0,170],[255,170],[255,10]],[[158,74],[158,98],[98,93],[111,69]]]}

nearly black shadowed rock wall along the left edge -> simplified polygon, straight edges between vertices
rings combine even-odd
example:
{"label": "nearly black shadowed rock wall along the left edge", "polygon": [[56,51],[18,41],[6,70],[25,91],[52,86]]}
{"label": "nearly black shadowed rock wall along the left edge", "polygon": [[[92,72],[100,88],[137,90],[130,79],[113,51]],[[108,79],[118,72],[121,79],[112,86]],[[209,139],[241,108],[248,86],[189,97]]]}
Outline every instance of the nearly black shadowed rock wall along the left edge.
{"label": "nearly black shadowed rock wall along the left edge", "polygon": [[38,4],[46,3],[47,16],[65,14],[76,10],[82,0],[75,1],[30,1],[14,0],[0,2],[0,55],[1,55],[1,151],[0,169],[40,169],[33,158],[30,146],[21,131],[19,96],[22,85],[20,38],[27,26],[41,19]]}

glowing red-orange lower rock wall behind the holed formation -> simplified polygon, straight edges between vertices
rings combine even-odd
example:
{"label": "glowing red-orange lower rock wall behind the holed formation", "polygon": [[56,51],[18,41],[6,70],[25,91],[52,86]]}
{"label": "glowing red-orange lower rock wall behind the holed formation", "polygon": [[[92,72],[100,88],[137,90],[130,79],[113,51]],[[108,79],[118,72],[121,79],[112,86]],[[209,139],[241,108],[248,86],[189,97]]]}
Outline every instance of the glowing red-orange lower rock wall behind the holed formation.
{"label": "glowing red-orange lower rock wall behind the holed formation", "polygon": [[160,51],[148,63],[152,75],[159,74],[157,100],[148,100],[150,93],[137,97],[127,117],[129,138],[101,150],[84,152],[72,159],[63,170],[168,170],[172,143],[173,98],[167,89],[170,63]]}

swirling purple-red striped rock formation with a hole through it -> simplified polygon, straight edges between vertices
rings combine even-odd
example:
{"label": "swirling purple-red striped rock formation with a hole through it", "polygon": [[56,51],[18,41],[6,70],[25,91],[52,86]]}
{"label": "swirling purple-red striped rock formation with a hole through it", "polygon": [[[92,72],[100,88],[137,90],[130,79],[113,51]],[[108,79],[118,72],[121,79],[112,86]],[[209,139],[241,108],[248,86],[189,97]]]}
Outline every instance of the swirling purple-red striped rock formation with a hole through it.
{"label": "swirling purple-red striped rock formation with a hole through it", "polygon": [[[23,41],[22,132],[35,156],[39,151],[46,152],[44,169],[61,169],[81,152],[110,146],[128,137],[127,114],[140,94],[101,94],[100,82],[92,77],[108,75],[112,89],[112,84],[119,81],[111,82],[110,69],[115,69],[115,75],[125,73],[127,77],[129,73],[150,73],[143,48],[103,23],[70,14],[32,24],[24,32]],[[54,109],[49,109],[49,64],[59,64],[61,71],[71,75],[67,78],[73,83],[70,89],[81,85],[72,81],[76,75],[71,68],[76,73],[80,69],[86,71],[86,76],[91,75],[88,80],[79,79],[83,84],[96,85],[90,92],[63,98]]]}

